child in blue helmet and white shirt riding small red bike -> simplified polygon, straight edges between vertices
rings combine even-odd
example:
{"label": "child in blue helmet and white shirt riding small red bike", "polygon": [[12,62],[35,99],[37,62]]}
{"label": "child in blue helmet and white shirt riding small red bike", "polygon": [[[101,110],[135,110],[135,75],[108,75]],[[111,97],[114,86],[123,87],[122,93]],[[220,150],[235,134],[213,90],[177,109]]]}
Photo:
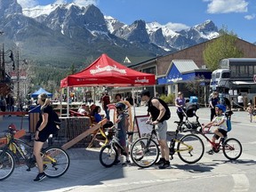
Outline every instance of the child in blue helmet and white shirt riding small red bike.
{"label": "child in blue helmet and white shirt riding small red bike", "polygon": [[[212,142],[215,140],[219,140],[219,138],[227,138],[228,128],[227,128],[227,117],[224,115],[226,111],[226,107],[223,104],[218,104],[215,106],[215,114],[216,116],[212,119],[212,122],[209,124],[205,124],[207,126],[218,126],[216,130],[214,130],[214,135],[212,136]],[[213,155],[213,149],[207,151],[209,155]]]}

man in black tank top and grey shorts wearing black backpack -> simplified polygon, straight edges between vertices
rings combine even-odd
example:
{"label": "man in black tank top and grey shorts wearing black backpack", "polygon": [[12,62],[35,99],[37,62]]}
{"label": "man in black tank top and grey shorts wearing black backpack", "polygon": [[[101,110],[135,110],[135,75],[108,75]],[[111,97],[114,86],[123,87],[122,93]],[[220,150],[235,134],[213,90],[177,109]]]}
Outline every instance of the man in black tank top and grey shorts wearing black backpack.
{"label": "man in black tank top and grey shorts wearing black backpack", "polygon": [[[160,100],[155,97],[150,97],[150,92],[148,90],[143,90],[140,92],[140,97],[142,101],[148,102],[148,114],[149,118],[147,123],[152,123],[156,125],[156,135],[157,140],[160,145],[161,158],[156,165],[159,165],[159,169],[165,169],[170,167],[169,161],[169,148],[167,146],[166,135],[167,135],[167,122],[166,120],[170,118],[171,113],[167,104],[164,100]],[[164,107],[165,106],[165,107]]]}

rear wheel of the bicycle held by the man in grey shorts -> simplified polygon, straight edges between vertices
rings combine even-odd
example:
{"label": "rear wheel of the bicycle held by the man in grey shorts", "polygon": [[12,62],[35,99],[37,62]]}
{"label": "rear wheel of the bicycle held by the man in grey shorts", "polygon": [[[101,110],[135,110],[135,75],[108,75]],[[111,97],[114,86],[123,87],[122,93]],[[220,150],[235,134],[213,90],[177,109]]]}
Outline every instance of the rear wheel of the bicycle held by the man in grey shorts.
{"label": "rear wheel of the bicycle held by the man in grey shorts", "polygon": [[195,164],[204,156],[204,143],[197,135],[184,135],[178,142],[177,153],[187,164]]}

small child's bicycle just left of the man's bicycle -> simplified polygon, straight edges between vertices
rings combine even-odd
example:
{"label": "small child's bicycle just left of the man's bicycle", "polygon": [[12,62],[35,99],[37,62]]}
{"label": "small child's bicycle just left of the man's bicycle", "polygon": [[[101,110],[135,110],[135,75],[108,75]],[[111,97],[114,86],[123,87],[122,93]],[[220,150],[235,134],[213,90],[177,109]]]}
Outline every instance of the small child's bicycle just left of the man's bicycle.
{"label": "small child's bicycle just left of the man's bicycle", "polygon": [[[116,137],[116,127],[113,127],[111,129],[108,129],[108,131],[115,132],[115,134],[112,137],[112,140],[109,141],[109,143],[105,146],[103,146],[100,149],[100,164],[102,164],[105,167],[111,167],[114,164],[116,164],[118,159],[118,153],[117,148],[121,149],[121,155],[127,156],[127,154],[124,151],[124,148],[121,146],[118,138]],[[133,132],[127,132],[128,141],[127,144],[129,145],[129,136],[131,136]]]}

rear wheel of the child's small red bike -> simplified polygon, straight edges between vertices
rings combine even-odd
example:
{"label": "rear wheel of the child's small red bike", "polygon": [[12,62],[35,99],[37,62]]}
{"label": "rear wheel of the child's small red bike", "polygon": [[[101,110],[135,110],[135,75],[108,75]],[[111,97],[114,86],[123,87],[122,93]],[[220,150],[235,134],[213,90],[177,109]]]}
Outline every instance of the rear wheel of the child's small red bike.
{"label": "rear wheel of the child's small red bike", "polygon": [[241,156],[243,151],[242,145],[239,140],[229,138],[223,144],[223,154],[230,160],[236,160]]}

